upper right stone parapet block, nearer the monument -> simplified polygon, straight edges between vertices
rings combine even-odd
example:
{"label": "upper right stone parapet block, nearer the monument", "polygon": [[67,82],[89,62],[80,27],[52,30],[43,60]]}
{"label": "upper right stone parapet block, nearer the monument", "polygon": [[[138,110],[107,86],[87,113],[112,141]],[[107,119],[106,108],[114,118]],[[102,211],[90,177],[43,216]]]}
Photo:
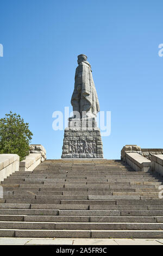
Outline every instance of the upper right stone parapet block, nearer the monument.
{"label": "upper right stone parapet block, nearer the monument", "polygon": [[136,172],[148,172],[152,169],[151,161],[138,153],[126,153],[126,162]]}

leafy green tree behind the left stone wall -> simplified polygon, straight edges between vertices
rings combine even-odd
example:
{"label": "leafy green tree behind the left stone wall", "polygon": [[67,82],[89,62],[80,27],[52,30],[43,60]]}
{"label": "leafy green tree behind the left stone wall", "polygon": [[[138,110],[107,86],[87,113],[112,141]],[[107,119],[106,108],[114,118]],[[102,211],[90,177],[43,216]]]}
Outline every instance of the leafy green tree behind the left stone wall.
{"label": "leafy green tree behind the left stone wall", "polygon": [[29,155],[29,142],[33,133],[29,124],[18,114],[5,114],[0,119],[0,154],[17,154],[20,161]]}

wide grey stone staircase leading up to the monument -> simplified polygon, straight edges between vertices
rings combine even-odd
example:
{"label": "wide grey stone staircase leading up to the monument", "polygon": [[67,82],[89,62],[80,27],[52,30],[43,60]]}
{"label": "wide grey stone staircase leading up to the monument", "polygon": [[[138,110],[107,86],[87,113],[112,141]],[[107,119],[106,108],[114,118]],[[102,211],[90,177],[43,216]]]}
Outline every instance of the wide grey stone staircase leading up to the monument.
{"label": "wide grey stone staircase leading up to the monument", "polygon": [[162,177],[120,160],[46,160],[1,182],[1,237],[162,238]]}

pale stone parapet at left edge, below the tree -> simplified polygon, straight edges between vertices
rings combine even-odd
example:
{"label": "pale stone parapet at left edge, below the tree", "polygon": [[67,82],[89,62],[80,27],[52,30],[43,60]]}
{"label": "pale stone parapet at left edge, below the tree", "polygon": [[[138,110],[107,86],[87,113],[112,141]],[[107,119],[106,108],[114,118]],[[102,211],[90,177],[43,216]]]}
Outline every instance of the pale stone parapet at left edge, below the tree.
{"label": "pale stone parapet at left edge, below the tree", "polygon": [[16,154],[0,154],[0,181],[19,169],[20,157]]}

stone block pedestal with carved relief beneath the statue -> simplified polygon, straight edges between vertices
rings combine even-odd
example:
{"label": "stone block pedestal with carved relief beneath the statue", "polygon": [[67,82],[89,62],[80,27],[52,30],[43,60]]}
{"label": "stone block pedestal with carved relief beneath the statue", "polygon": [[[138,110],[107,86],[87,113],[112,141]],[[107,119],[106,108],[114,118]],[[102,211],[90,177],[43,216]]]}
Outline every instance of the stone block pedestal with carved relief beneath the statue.
{"label": "stone block pedestal with carved relief beneath the statue", "polygon": [[101,132],[95,119],[72,119],[68,122],[61,158],[103,158]]}

